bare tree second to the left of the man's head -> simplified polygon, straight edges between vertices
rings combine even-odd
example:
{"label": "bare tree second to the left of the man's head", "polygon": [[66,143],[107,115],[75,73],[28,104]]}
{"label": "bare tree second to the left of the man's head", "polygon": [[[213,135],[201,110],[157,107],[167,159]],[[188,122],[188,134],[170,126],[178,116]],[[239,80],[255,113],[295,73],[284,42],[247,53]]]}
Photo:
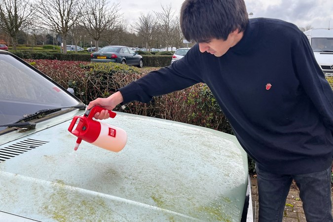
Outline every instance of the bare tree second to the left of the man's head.
{"label": "bare tree second to the left of the man's head", "polygon": [[149,50],[153,34],[156,32],[156,21],[152,18],[152,15],[141,13],[139,21],[132,25],[132,29],[139,37],[142,37],[146,43],[146,48]]}

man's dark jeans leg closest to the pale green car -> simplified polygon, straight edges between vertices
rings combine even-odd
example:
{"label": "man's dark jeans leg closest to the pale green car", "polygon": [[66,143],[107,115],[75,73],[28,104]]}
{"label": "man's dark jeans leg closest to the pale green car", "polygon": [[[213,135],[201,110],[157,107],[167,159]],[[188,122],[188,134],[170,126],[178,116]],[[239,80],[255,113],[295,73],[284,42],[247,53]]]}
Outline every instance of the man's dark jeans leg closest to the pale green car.
{"label": "man's dark jeans leg closest to the pale green car", "polygon": [[291,175],[271,174],[256,164],[259,222],[282,222],[286,199],[293,181]]}

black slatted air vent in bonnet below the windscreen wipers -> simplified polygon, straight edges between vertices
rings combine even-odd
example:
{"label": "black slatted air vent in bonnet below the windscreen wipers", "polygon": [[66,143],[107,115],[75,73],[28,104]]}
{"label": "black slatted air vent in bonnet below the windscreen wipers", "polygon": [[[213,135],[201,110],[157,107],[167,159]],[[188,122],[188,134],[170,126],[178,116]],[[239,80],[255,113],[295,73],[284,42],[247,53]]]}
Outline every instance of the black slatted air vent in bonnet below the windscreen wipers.
{"label": "black slatted air vent in bonnet below the windscreen wipers", "polygon": [[8,147],[0,148],[0,162],[18,156],[26,151],[40,147],[48,142],[26,139]]}

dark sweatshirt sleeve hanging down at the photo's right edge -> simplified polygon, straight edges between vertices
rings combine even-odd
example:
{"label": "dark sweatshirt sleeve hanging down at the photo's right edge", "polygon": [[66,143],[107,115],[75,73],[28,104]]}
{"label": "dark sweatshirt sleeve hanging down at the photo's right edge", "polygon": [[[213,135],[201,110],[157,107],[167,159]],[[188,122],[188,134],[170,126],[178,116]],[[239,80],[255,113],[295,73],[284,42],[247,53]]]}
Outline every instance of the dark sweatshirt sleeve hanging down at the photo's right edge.
{"label": "dark sweatshirt sleeve hanging down at the photo's right edge", "polygon": [[333,92],[318,65],[309,40],[302,34],[292,52],[300,84],[313,102],[323,122],[333,131]]}

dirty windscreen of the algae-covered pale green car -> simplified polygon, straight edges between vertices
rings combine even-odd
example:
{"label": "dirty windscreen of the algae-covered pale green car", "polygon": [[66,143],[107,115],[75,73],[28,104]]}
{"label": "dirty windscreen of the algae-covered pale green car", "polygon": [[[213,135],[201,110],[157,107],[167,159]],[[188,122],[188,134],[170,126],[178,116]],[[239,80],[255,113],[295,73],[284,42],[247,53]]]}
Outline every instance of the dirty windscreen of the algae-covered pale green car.
{"label": "dirty windscreen of the algae-covered pale green car", "polygon": [[[42,109],[80,102],[9,54],[0,54],[0,125],[14,123]],[[1,127],[0,127],[1,130]]]}

